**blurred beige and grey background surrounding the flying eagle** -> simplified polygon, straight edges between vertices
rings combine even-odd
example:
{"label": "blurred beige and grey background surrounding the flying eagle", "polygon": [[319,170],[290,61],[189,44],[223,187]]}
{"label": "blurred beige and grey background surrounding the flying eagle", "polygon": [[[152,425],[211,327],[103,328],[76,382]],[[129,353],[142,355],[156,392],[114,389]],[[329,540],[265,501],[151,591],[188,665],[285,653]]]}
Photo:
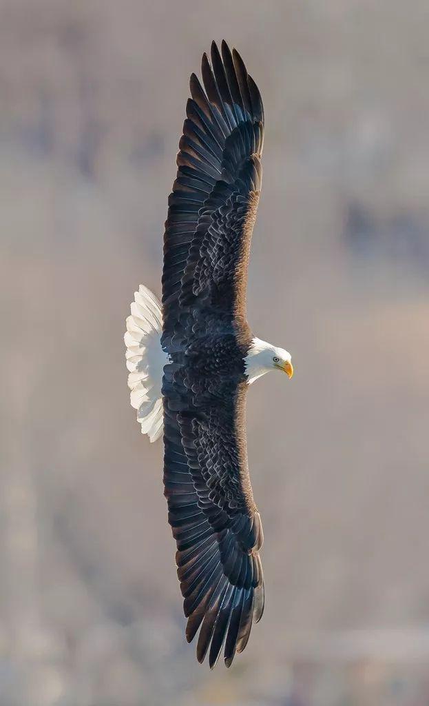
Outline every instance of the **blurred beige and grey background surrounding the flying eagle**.
{"label": "blurred beige and grey background surrounding the flying eagle", "polygon": [[[427,706],[427,2],[0,11],[1,706]],[[266,609],[210,673],[123,332],[213,38],[265,103],[249,319],[296,374],[248,395]]]}

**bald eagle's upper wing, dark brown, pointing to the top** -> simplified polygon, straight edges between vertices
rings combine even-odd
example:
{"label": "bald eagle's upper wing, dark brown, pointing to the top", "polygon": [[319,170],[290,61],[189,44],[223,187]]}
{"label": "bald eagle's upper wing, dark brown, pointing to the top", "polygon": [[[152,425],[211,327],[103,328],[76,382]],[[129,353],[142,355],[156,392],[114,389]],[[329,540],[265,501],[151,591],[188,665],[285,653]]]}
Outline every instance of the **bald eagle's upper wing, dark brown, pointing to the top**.
{"label": "bald eagle's upper wing, dark brown, pointing to the top", "polygon": [[[211,297],[246,318],[248,253],[258,208],[264,136],[260,92],[238,52],[212,43],[203,55],[205,92],[191,76],[164,234],[164,342],[183,308]],[[184,272],[186,268],[186,271]],[[198,304],[202,306],[202,304]]]}

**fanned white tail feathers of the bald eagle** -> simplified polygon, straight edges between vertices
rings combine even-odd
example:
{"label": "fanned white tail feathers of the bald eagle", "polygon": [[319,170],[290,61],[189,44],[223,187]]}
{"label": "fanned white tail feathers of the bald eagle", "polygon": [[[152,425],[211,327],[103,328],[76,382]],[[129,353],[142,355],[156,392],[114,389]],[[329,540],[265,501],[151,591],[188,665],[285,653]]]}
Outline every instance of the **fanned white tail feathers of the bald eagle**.
{"label": "fanned white tail feathers of the bald eagle", "polygon": [[140,285],[126,320],[126,366],[131,406],[137,409],[142,433],[156,441],[162,434],[162,376],[168,361],[161,347],[162,310],[155,294]]}

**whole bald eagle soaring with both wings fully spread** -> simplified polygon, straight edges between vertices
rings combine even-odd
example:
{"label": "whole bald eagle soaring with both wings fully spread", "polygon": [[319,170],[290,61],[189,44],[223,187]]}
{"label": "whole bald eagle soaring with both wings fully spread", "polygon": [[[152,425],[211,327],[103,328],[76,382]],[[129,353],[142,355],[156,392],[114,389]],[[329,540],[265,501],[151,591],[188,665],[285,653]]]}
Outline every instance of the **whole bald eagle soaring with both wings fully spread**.
{"label": "whole bald eagle soaring with both wings fully spread", "polygon": [[[246,319],[250,239],[260,196],[264,111],[225,42],[193,73],[164,233],[162,305],[140,286],[126,320],[131,405],[164,436],[164,495],[177,543],[186,638],[210,668],[230,666],[264,609],[262,524],[246,452],[246,393],[291,355]],[[203,87],[204,86],[204,87]]]}

